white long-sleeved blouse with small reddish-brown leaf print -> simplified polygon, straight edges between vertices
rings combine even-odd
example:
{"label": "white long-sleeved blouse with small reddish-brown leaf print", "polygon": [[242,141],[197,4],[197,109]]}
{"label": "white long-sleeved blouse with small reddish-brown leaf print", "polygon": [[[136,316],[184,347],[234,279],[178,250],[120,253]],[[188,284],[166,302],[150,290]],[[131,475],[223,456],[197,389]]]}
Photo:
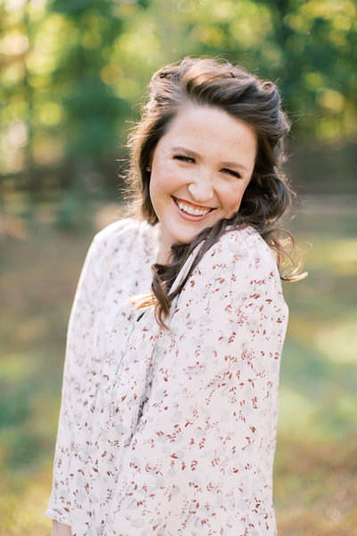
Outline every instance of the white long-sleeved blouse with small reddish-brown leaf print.
{"label": "white long-sleeved blouse with small reddish-brown leaf print", "polygon": [[274,255],[252,228],[226,233],[161,330],[128,302],[150,289],[159,231],[123,220],[89,248],[46,515],[73,536],[274,536],[287,321]]}

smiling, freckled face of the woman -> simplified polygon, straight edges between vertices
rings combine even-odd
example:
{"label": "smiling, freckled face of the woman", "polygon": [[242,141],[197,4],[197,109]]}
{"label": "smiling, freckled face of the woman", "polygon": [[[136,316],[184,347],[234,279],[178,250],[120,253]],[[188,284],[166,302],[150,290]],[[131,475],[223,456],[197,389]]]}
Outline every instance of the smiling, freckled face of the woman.
{"label": "smiling, freckled face of the woman", "polygon": [[150,198],[162,224],[162,249],[190,242],[237,213],[256,148],[254,130],[220,108],[181,108],[152,160]]}

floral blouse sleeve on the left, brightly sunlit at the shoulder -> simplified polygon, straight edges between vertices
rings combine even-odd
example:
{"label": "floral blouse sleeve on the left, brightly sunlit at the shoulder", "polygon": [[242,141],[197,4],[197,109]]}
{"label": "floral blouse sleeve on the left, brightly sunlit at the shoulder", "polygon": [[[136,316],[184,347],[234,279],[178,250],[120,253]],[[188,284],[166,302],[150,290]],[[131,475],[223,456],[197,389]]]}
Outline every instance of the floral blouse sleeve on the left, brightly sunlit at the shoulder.
{"label": "floral blouse sleeve on the left, brightly sunlit at the shoulder", "polygon": [[[137,259],[130,261],[128,251],[134,241],[145,248],[140,233],[138,222],[121,220],[95,235],[71,309],[53,488],[46,515],[70,524],[77,534],[85,533],[95,508],[95,478],[90,473],[95,463],[93,438],[98,433],[95,415],[101,410],[101,393],[110,388],[112,369],[130,329],[131,306],[125,298],[126,293],[135,292],[137,272],[130,262]],[[121,281],[125,284],[120,285]]]}

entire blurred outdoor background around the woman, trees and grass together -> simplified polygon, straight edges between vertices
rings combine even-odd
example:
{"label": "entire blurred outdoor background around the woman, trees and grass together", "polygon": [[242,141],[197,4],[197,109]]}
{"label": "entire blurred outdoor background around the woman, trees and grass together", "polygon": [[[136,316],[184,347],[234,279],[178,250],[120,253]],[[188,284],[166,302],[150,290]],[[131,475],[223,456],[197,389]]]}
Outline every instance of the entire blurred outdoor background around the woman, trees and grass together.
{"label": "entire blurred outdoor background around the woman, trees and grass together", "polygon": [[50,533],[71,301],[154,70],[187,54],[275,80],[301,202],[286,226],[279,536],[357,534],[355,0],[0,0],[0,535]]}

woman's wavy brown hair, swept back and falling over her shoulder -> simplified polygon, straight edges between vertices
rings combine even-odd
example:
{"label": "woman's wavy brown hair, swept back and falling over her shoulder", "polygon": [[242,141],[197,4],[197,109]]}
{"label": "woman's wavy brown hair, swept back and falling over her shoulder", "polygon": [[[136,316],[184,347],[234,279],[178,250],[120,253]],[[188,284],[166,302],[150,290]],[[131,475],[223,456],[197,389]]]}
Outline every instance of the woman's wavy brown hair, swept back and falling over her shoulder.
{"label": "woman's wavy brown hair, swept back and falling over her shoulder", "polygon": [[[204,253],[229,230],[251,225],[276,253],[278,267],[291,261],[288,272],[280,277],[286,281],[301,279],[300,263],[292,261],[295,240],[290,233],[282,239],[275,223],[291,203],[292,191],[281,172],[284,161],[283,138],[290,124],[281,110],[278,89],[270,81],[259,80],[240,66],[227,61],[187,57],[180,63],[167,65],[154,72],[149,84],[149,101],[143,108],[141,121],[129,138],[129,185],[134,192],[134,205],[140,216],[154,225],[158,222],[149,195],[150,164],[154,149],[168,130],[170,121],[181,106],[193,103],[220,108],[245,121],[257,135],[257,155],[244,197],[237,214],[220,220],[213,227],[201,231],[188,244],[171,247],[169,264],[154,264],[153,295],[137,300],[137,307],[155,305],[158,322],[164,326],[164,318],[174,297],[178,296],[188,277]],[[229,226],[229,228],[228,228]],[[198,244],[194,263],[174,292],[170,288],[179,270]]]}

